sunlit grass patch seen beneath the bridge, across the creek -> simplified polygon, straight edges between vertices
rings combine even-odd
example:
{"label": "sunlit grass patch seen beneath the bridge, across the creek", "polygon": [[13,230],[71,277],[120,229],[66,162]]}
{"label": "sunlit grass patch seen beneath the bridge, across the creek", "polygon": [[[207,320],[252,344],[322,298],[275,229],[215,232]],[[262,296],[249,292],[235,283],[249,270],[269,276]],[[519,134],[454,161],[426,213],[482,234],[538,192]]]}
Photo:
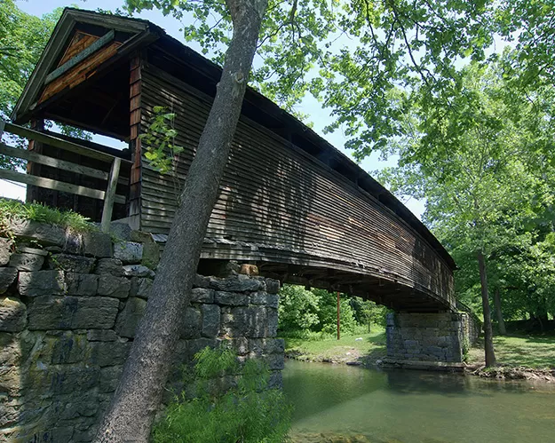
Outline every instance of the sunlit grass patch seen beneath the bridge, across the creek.
{"label": "sunlit grass patch seen beneath the bridge, across the creek", "polygon": [[[357,340],[361,338],[361,340]],[[385,357],[385,329],[373,327],[369,334],[337,337],[320,335],[285,338],[285,354],[303,361],[367,363]]]}

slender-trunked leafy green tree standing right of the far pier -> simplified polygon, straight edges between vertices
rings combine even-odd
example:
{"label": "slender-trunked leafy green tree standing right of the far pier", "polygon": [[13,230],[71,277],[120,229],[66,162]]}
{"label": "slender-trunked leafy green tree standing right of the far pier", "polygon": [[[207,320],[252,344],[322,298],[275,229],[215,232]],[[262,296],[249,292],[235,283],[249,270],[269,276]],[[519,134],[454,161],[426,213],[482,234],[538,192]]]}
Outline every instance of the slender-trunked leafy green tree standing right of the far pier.
{"label": "slender-trunked leafy green tree standing right of the far pier", "polygon": [[474,257],[486,365],[492,366],[488,258],[516,244],[522,219],[534,211],[531,202],[550,200],[545,172],[551,169],[552,128],[539,104],[548,105],[551,92],[531,102],[507,89],[498,64],[476,62],[464,68],[454,92],[433,101],[420,96],[425,99],[407,123],[413,137],[392,148],[400,168],[382,178],[401,194],[425,197],[424,220],[433,232],[448,249]]}

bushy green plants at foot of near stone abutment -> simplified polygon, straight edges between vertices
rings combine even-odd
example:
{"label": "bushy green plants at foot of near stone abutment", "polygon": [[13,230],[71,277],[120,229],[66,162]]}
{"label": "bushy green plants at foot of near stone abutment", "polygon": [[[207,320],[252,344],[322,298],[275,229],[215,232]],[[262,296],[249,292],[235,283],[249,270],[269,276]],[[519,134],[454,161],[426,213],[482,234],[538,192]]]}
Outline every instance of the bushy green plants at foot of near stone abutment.
{"label": "bushy green plants at foot of near stone abutment", "polygon": [[234,388],[211,395],[207,385],[238,370],[234,352],[205,348],[194,357],[198,397],[176,398],[155,425],[156,443],[278,443],[286,441],[291,407],[277,389],[268,389],[269,371],[247,360]]}

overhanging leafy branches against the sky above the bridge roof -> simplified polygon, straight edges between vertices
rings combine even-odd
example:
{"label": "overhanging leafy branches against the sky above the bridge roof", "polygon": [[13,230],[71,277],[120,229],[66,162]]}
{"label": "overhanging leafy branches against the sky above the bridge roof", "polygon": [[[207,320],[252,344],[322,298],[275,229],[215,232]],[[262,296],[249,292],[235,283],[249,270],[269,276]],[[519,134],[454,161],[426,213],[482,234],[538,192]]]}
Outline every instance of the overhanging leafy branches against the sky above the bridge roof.
{"label": "overhanging leafy branches against the sky above the bridge roof", "polygon": [[[157,8],[177,20],[188,41],[219,64],[233,32],[226,2],[127,0],[130,12]],[[347,146],[376,149],[403,131],[417,83],[432,96],[448,87],[457,59],[484,59],[493,43],[490,2],[416,0],[270,0],[250,75],[254,86],[294,111],[306,93],[329,107]],[[401,86],[407,93],[396,95]],[[362,152],[362,151],[361,151]]]}

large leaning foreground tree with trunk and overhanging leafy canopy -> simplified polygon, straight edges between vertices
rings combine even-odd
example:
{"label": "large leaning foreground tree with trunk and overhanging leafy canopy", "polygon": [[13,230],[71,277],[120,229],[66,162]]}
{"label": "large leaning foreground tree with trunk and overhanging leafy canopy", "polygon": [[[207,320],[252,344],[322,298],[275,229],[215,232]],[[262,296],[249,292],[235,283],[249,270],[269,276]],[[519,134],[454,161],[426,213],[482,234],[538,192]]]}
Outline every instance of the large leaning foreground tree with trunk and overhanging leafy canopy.
{"label": "large leaning foreground tree with trunk and overhanging leafy canopy", "polygon": [[[410,106],[406,97],[391,99],[395,86],[411,88],[422,82],[432,96],[438,88],[449,87],[450,80],[443,77],[453,76],[453,60],[471,55],[483,59],[483,48],[492,41],[484,26],[490,12],[486,2],[271,0],[268,5],[267,0],[127,0],[127,4],[135,11],[157,7],[177,18],[193,14],[197,21],[186,28],[186,36],[200,40],[204,51],[215,50],[223,72],[153,295],[98,441],[148,439],[255,51],[260,59],[253,79],[270,98],[290,108],[310,90],[337,111],[337,124],[331,129],[346,124],[349,135],[362,131],[362,142],[385,146],[386,137],[400,133],[396,122]],[[332,51],[334,41],[342,39],[341,48]],[[222,47],[227,47],[225,55]]]}

